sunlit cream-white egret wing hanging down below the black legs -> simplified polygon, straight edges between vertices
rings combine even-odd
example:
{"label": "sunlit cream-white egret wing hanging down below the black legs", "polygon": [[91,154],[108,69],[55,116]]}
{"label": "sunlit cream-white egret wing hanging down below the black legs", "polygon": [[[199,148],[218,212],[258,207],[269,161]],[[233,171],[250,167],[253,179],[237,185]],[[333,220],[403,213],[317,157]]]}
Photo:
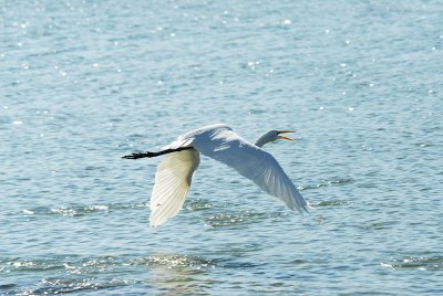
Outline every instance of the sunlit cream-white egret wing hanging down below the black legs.
{"label": "sunlit cream-white egret wing hanging down below the black legs", "polygon": [[151,226],[158,226],[179,212],[199,161],[196,150],[183,150],[168,154],[158,165],[151,195]]}

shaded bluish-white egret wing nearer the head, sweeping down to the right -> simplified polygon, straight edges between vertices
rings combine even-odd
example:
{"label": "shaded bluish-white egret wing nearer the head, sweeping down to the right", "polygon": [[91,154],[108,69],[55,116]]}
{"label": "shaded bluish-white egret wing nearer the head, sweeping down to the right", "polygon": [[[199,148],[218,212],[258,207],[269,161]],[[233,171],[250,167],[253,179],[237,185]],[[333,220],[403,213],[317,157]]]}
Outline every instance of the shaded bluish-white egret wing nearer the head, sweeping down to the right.
{"label": "shaded bluish-white egret wing nearer the head, sweeping down to the right", "polygon": [[282,200],[291,210],[307,211],[307,202],[277,160],[267,151],[235,134],[230,128],[214,128],[194,137],[193,146],[253,180],[264,191]]}

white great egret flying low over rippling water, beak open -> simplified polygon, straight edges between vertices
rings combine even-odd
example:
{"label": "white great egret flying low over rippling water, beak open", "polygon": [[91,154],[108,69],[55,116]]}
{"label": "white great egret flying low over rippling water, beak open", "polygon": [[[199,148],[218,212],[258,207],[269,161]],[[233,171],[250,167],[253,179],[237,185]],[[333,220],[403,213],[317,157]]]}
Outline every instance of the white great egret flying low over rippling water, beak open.
{"label": "white great egret flying low over rippling water, beak open", "polygon": [[151,195],[151,226],[158,226],[175,216],[185,202],[192,178],[200,161],[199,154],[214,158],[253,180],[269,194],[282,200],[299,212],[308,204],[289,180],[277,160],[261,147],[291,130],[269,130],[256,144],[239,137],[226,125],[205,126],[178,137],[159,152],[132,154],[126,159],[166,155],[159,162]]}

